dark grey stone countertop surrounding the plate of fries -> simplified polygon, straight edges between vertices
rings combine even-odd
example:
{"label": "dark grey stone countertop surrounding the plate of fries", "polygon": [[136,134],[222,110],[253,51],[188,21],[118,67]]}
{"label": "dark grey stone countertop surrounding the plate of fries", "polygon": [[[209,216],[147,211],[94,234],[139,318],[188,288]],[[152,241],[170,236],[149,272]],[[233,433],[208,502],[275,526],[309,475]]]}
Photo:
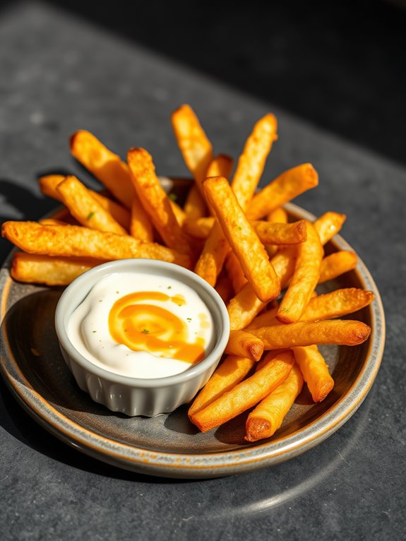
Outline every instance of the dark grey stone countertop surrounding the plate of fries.
{"label": "dark grey stone countertop surrounding the plate of fries", "polygon": [[[311,451],[273,468],[215,480],[165,480],[105,465],[62,444],[0,382],[0,528],[4,540],[393,539],[405,537],[406,171],[258,102],[35,3],[0,13],[0,215],[54,208],[39,174],[71,171],[89,129],[124,155],[143,146],[157,171],[184,175],[169,117],[188,102],[215,149],[239,155],[253,122],[275,112],[279,141],[263,182],[301,162],[320,185],[296,202],[347,215],[343,236],[376,280],[386,351],[353,417]],[[11,246],[1,239],[1,260]]]}

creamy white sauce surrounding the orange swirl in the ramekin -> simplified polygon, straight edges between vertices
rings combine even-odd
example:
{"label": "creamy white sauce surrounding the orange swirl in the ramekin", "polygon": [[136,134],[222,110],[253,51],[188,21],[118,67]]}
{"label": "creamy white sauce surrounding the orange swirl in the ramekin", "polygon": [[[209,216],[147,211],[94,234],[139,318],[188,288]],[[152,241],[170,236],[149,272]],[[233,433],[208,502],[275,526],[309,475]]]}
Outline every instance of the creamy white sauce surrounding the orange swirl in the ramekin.
{"label": "creamy white sauce surrounding the orange swirl in the ramekin", "polygon": [[[109,313],[114,303],[130,293],[145,291],[158,291],[171,296],[182,295],[186,299],[186,304],[182,306],[157,300],[148,300],[148,304],[156,304],[172,311],[187,323],[188,341],[193,342],[196,337],[201,337],[204,339],[205,352],[213,349],[213,318],[208,307],[191,287],[172,278],[157,275],[113,273],[102,278],[90,290],[69,319],[68,337],[76,350],[98,367],[136,378],[171,376],[191,367],[191,363],[179,359],[133,351],[112,338],[109,331]],[[210,323],[207,328],[202,328],[202,318]]]}

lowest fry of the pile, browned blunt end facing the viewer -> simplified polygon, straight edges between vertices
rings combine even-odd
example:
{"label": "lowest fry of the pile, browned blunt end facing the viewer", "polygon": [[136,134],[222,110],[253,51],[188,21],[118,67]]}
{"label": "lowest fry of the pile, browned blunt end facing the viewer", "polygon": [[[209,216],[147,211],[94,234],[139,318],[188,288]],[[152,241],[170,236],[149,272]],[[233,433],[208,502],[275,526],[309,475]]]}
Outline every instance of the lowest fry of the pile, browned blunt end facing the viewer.
{"label": "lowest fry of the pile, browned blunt end facing the viewer", "polygon": [[280,428],[303,386],[303,376],[294,364],[287,379],[266,396],[246,420],[246,441],[270,438]]}

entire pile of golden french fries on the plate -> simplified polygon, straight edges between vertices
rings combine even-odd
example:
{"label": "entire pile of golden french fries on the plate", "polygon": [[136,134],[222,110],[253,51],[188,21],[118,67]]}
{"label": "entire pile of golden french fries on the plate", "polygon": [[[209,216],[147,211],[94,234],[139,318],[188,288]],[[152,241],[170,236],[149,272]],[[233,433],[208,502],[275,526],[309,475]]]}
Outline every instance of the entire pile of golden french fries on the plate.
{"label": "entire pile of golden french fries on the plate", "polygon": [[253,127],[234,174],[230,157],[213,154],[189,105],[174,111],[172,126],[194,179],[183,208],[162,189],[146,150],[131,148],[124,162],[91,133],[78,131],[71,153],[107,191],[91,191],[73,175],[40,178],[42,193],[64,208],[40,222],[4,222],[3,236],[21,250],[13,255],[11,275],[68,285],[89,268],[122,258],[193,269],[227,304],[232,330],[225,357],[189,418],[205,432],[251,410],[246,440],[268,438],[304,382],[315,403],[330,393],[334,381],[317,346],[364,342],[369,326],[340,318],[366,307],[374,295],[356,288],[316,294],[318,284],[352,270],[357,256],[324,256],[323,245],[345,215],[288,221],[283,205],[318,185],[312,165],[293,167],[257,191],[277,139],[273,114]]}

